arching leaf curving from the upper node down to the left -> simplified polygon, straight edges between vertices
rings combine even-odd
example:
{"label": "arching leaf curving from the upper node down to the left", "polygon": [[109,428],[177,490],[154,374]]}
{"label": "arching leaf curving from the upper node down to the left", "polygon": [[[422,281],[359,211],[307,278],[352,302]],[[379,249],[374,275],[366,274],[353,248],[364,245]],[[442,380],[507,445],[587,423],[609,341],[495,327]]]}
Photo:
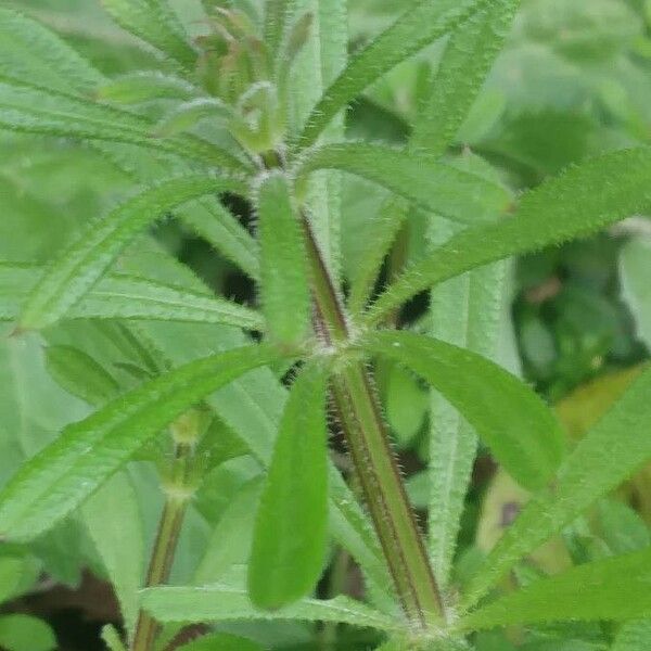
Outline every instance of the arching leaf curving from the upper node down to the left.
{"label": "arching leaf curving from the upper node down to the left", "polygon": [[209,192],[237,187],[232,181],[207,175],[179,177],[145,190],[103,220],[89,224],[33,290],[20,327],[43,328],[61,319],[106,272],[125,246],[166,212]]}

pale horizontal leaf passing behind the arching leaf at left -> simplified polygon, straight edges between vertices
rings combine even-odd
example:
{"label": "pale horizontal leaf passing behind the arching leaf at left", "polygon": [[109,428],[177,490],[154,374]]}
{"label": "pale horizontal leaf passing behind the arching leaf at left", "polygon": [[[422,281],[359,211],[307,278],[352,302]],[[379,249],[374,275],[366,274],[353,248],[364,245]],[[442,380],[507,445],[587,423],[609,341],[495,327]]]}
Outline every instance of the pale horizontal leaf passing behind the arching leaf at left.
{"label": "pale horizontal leaf passing behind the arching leaf at left", "polygon": [[[0,321],[13,321],[43,267],[0,261]],[[224,323],[264,330],[263,316],[231,301],[125,273],[102,278],[65,319],[131,319]]]}

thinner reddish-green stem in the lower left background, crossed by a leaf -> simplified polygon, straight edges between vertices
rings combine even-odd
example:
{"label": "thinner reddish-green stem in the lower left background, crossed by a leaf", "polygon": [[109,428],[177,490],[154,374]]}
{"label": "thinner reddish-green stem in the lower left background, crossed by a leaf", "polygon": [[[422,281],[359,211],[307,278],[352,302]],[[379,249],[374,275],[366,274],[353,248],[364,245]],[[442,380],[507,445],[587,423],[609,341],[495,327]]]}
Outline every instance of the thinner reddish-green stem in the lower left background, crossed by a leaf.
{"label": "thinner reddish-green stem in the lower left background, crossed by a leaf", "polygon": [[[189,474],[193,456],[193,445],[177,443],[171,467],[171,483],[166,488],[165,505],[146,572],[145,587],[148,588],[164,584],[169,578],[179,534],[192,497]],[[152,651],[158,630],[158,623],[141,610],[138,614],[131,651]]]}

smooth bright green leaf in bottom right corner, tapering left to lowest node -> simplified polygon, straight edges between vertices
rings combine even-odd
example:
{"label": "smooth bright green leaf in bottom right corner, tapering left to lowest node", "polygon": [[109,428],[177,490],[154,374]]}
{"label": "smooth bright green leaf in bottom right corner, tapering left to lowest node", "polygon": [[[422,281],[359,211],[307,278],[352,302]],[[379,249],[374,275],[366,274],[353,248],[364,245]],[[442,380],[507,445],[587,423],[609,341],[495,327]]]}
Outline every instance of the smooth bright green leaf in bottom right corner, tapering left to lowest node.
{"label": "smooth bright green leaf in bottom right corner, tapering left to lowest node", "polygon": [[562,621],[634,620],[651,615],[651,549],[586,563],[536,580],[463,616],[464,630]]}

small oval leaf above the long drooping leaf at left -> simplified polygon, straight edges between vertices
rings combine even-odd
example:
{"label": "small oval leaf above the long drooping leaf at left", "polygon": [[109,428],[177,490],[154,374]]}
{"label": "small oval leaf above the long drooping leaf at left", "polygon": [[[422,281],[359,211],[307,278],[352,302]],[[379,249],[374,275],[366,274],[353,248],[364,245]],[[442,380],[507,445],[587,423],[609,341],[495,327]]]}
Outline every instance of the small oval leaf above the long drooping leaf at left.
{"label": "small oval leaf above the long drooping leaf at left", "polygon": [[115,378],[79,348],[48,346],[46,366],[63,388],[89,405],[101,405],[119,391]]}

